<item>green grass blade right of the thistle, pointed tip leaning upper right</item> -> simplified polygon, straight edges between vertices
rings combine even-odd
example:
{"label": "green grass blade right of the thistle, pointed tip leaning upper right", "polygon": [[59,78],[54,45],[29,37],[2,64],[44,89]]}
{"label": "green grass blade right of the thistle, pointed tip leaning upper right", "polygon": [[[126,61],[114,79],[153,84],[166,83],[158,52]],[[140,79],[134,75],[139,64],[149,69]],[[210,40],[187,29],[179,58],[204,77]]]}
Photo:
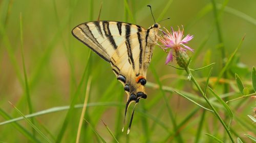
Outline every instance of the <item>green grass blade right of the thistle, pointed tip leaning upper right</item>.
{"label": "green grass blade right of the thistle, pointed tip leaning upper right", "polygon": [[220,74],[218,75],[218,78],[217,78],[217,80],[216,80],[214,86],[215,86],[217,83],[219,83],[221,77],[223,76],[223,74],[225,73],[225,71],[228,69],[229,65],[231,64],[231,61],[232,61],[233,58],[234,58],[234,55],[236,55],[237,52],[238,52],[238,50],[240,49],[240,47],[241,47],[241,45],[242,45],[242,43],[243,43],[243,41],[244,41],[244,38],[245,38],[245,35],[244,35],[243,38],[240,40],[240,42],[239,42],[239,44],[238,44],[236,50],[234,50],[234,52],[233,52],[233,53],[231,54],[231,56],[228,58],[228,60],[227,60],[227,62],[226,62],[226,64],[225,64],[225,66],[224,66],[224,67],[222,68],[222,70],[220,71]]}

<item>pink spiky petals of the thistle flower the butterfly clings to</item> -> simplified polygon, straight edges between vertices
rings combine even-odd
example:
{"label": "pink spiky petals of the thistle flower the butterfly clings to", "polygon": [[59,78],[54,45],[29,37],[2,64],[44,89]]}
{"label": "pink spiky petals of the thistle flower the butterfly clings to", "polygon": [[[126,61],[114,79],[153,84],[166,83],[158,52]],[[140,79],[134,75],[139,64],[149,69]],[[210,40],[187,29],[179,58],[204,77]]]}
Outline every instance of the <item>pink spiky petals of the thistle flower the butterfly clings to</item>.
{"label": "pink spiky petals of the thistle flower the butterfly clings to", "polygon": [[162,31],[163,36],[159,36],[159,41],[162,43],[162,45],[160,45],[160,47],[163,50],[170,49],[168,56],[166,57],[165,64],[169,63],[170,61],[173,61],[173,52],[176,52],[179,50],[184,51],[184,52],[186,52],[186,50],[194,52],[193,49],[191,49],[189,46],[185,45],[186,43],[188,43],[188,41],[193,39],[194,36],[188,34],[188,35],[186,35],[186,37],[184,37],[183,27],[182,27],[182,30],[180,30],[180,28],[179,28],[178,31],[174,31],[173,28],[171,28],[171,29],[172,29],[171,33],[165,29],[167,33]]}

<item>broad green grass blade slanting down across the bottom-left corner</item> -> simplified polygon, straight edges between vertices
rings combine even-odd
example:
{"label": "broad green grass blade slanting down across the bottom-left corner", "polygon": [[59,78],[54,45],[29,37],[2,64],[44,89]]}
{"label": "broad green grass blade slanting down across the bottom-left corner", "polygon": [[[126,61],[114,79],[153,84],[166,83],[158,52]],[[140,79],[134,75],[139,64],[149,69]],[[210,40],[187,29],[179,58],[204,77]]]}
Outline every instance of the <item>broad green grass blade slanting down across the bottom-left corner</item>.
{"label": "broad green grass blade slanting down across the bottom-left corner", "polygon": [[[9,116],[4,110],[0,109],[0,114],[3,118],[5,118],[5,120],[7,121],[11,121],[12,117]],[[22,117],[23,118],[23,117]],[[19,125],[16,122],[10,122],[12,123],[13,127],[18,130],[20,133],[22,133],[28,140],[30,140],[31,142],[41,142],[40,140],[38,140],[35,136],[33,136],[28,130],[26,130],[24,127],[22,127],[21,125]]]}

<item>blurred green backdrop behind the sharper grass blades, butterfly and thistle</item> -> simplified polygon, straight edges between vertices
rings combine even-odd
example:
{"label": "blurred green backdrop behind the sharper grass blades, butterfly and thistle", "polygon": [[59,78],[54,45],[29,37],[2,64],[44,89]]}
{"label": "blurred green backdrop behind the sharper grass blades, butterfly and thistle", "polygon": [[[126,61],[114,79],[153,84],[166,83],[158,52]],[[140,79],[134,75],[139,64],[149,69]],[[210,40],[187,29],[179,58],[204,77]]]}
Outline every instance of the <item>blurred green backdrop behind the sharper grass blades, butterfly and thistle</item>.
{"label": "blurred green backdrop behind the sharper grass blades, butterfly and thistle", "polygon": [[[126,7],[125,2],[127,2]],[[233,73],[239,73],[242,79],[248,83],[246,85],[249,86],[251,84],[249,71],[253,65],[255,66],[256,1],[215,2],[226,57],[231,55],[246,34],[242,47],[236,56],[237,61],[232,66],[233,68],[230,68],[228,75],[229,82],[232,83],[230,92],[236,92],[232,88],[235,82]],[[154,24],[150,9],[146,7],[146,5],[151,5],[153,14],[158,21],[170,17],[170,20],[160,22],[161,27],[169,29],[172,26],[177,29],[177,26],[183,25],[185,34],[195,36],[187,45],[195,51],[200,46],[202,49],[193,59],[193,68],[216,62],[212,76],[218,76],[223,59],[219,49],[219,36],[216,29],[216,19],[212,11],[212,1],[2,0],[0,1],[1,110],[12,117],[20,116],[8,103],[10,101],[24,114],[29,114],[20,46],[19,23],[21,14],[24,58],[33,112],[57,106],[68,106],[75,95],[78,97],[75,104],[82,104],[87,80],[91,76],[92,84],[88,103],[109,103],[109,106],[88,107],[85,118],[107,142],[113,141],[113,138],[101,120],[109,126],[120,142],[167,142],[175,140],[177,135],[168,136],[173,131],[173,126],[167,114],[167,107],[162,99],[161,91],[152,87],[146,88],[148,98],[141,100],[136,107],[137,112],[135,112],[130,135],[127,136],[125,132],[121,132],[126,101],[126,94],[122,85],[116,80],[110,64],[95,53],[92,53],[90,62],[88,62],[89,48],[71,34],[71,30],[80,23],[97,20],[101,3],[100,20],[130,22],[144,28]],[[189,53],[189,55],[193,55],[193,53]],[[164,65],[166,56],[167,54],[158,46],[155,47],[151,68],[147,72],[147,81],[157,83],[156,77],[152,73],[152,70],[156,70],[158,79],[163,85],[198,94],[194,90],[194,86],[185,80],[186,75],[184,73]],[[89,69],[86,70],[85,78],[79,88],[87,63],[89,63]],[[176,62],[172,64],[176,65]],[[238,71],[236,71],[237,68],[239,68]],[[207,74],[208,70],[199,71],[196,76],[203,83]],[[216,87],[220,94],[223,93],[221,86]],[[194,141],[203,110],[197,109],[198,106],[177,94],[172,92],[165,92],[165,94],[177,124],[181,123],[192,111],[195,111],[189,120],[185,120],[186,123],[179,131],[183,141]],[[233,98],[231,97],[231,99]],[[230,104],[234,116],[240,120],[245,120],[250,125],[246,115],[253,115],[254,102],[247,98],[240,104],[238,103],[239,101]],[[220,108],[219,110],[224,117],[224,109]],[[129,110],[126,121],[130,120],[131,112],[132,110]],[[57,138],[59,131],[62,130],[61,127],[66,114],[67,111],[52,112],[36,116],[34,122],[53,141]],[[81,108],[72,110],[72,117],[62,137],[62,142],[75,141],[80,114]],[[0,122],[4,121],[6,118],[2,114]],[[32,132],[32,128],[26,121],[17,123]],[[126,124],[128,123],[126,122]],[[232,126],[232,130],[247,140],[243,134],[249,133],[250,127],[246,128],[244,124],[236,120],[233,121]],[[253,125],[251,124],[251,126]],[[215,134],[220,138],[225,134],[216,117],[209,112],[205,114],[200,141],[210,142],[210,139],[203,133]],[[38,134],[36,137],[45,142]],[[225,135],[223,139],[225,139]],[[226,139],[228,140],[227,137]],[[0,141],[20,142],[20,140],[28,139],[15,126],[11,124],[0,126]],[[99,141],[87,123],[82,126],[80,141]]]}

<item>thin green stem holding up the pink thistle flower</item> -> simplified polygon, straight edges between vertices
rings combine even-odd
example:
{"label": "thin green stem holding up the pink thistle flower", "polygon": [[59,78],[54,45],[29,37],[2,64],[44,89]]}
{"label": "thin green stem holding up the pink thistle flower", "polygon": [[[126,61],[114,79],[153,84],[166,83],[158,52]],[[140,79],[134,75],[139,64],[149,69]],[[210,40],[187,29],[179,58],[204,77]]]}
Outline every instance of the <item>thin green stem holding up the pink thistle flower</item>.
{"label": "thin green stem holding up the pink thistle flower", "polygon": [[214,108],[214,106],[212,106],[212,104],[210,103],[210,101],[208,100],[208,98],[206,97],[206,95],[204,94],[204,91],[201,89],[200,85],[198,84],[197,80],[195,79],[195,77],[193,76],[193,74],[191,73],[191,69],[187,66],[185,68],[187,74],[191,77],[191,80],[194,82],[194,84],[197,86],[198,90],[201,92],[203,98],[205,99],[205,101],[207,102],[207,104],[210,106],[210,108],[214,111],[214,114],[217,116],[217,118],[219,119],[219,121],[221,122],[221,124],[223,125],[223,127],[225,128],[229,138],[231,139],[232,142],[234,142],[231,132],[230,130],[227,128],[226,124],[224,123],[224,121],[222,120],[221,116],[219,115],[219,113],[217,112],[217,110]]}

